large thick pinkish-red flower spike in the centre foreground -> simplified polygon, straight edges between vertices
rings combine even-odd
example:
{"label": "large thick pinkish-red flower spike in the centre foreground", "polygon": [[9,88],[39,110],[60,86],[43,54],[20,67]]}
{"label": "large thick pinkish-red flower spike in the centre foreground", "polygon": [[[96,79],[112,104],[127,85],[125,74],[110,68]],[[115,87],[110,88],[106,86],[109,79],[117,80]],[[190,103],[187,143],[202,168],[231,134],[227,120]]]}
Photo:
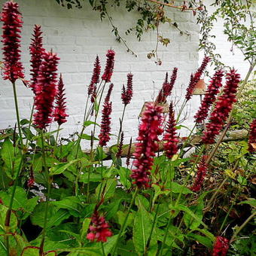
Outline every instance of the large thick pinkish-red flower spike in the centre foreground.
{"label": "large thick pinkish-red flower spike in the centre foreground", "polygon": [[153,166],[155,152],[158,150],[158,136],[163,133],[160,128],[163,120],[163,107],[154,103],[147,103],[146,110],[142,114],[142,122],[139,126],[139,136],[136,143],[136,151],[131,178],[134,179],[133,184],[139,188],[150,187],[149,175]]}

